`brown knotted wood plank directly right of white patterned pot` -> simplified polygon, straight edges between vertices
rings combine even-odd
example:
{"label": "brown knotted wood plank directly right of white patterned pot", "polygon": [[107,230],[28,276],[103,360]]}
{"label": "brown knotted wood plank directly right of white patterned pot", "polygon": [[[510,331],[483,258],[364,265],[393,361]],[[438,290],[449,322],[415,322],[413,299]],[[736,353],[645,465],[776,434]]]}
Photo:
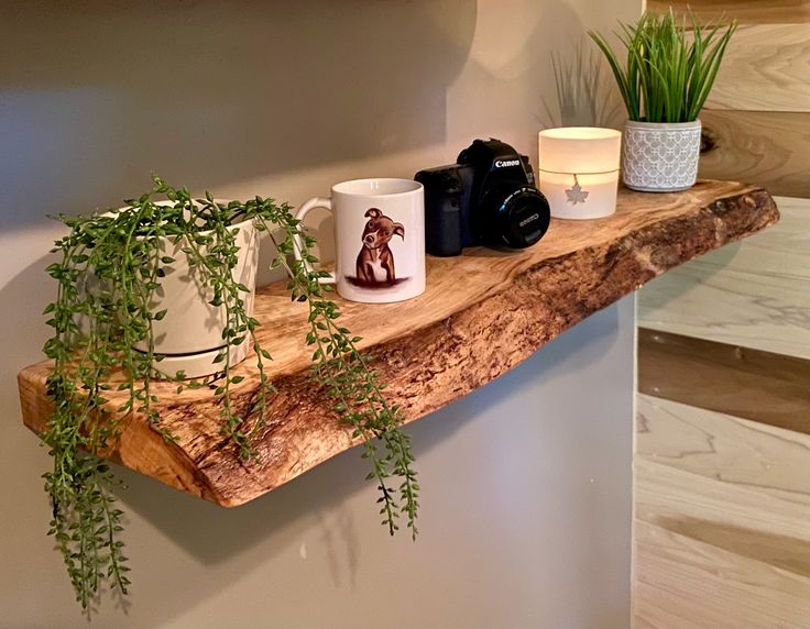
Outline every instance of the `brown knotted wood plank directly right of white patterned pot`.
{"label": "brown knotted wood plank directly right of white patterned pot", "polygon": [[704,109],[701,177],[753,181],[810,197],[810,114]]}

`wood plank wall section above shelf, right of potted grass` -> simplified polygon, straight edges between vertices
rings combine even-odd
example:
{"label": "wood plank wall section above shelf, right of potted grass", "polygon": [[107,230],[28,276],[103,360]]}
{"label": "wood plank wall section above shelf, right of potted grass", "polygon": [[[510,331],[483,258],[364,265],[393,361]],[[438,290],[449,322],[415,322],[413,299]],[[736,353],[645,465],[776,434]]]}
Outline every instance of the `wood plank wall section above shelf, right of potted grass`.
{"label": "wood plank wall section above shelf, right of potted grass", "polygon": [[[810,0],[671,4],[702,23],[736,18],[743,24],[700,114],[705,150],[700,176],[810,197]],[[647,5],[666,11],[670,2]]]}

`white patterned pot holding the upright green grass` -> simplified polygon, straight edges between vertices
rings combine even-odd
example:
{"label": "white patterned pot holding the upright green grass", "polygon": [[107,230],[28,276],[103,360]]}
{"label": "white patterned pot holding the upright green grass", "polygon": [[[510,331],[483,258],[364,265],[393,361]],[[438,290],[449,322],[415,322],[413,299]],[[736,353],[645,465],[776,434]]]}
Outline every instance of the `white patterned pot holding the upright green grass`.
{"label": "white patterned pot holding the upright green grass", "polygon": [[636,122],[624,128],[622,179],[643,192],[687,190],[698,178],[700,120]]}

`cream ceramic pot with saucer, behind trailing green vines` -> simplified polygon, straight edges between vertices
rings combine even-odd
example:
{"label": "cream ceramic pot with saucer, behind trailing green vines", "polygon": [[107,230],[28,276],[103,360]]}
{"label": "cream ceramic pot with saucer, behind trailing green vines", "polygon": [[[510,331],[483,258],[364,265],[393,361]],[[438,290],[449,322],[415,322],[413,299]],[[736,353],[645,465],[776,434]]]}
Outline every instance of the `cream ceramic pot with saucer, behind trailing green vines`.
{"label": "cream ceramic pot with saucer, behind trailing green vines", "polygon": [[[251,314],[259,264],[258,232],[252,221],[242,221],[229,229],[237,232],[236,245],[239,246],[233,278],[249,289],[241,297],[245,311]],[[162,242],[161,255],[171,256],[175,262],[163,265],[166,276],[160,279],[161,287],[155,290],[150,308],[153,312],[166,310],[162,320],[152,323],[154,350],[165,355],[155,367],[169,375],[184,371],[186,377],[193,378],[221,371],[222,363],[214,363],[214,358],[226,345],[222,330],[227,313],[223,306],[209,304],[214,290],[202,280],[199,269],[189,266],[187,255],[180,251],[184,246],[183,241],[173,244],[165,239]],[[245,358],[249,346],[245,341],[231,349],[231,365]],[[141,351],[147,349],[145,344],[135,347]]]}

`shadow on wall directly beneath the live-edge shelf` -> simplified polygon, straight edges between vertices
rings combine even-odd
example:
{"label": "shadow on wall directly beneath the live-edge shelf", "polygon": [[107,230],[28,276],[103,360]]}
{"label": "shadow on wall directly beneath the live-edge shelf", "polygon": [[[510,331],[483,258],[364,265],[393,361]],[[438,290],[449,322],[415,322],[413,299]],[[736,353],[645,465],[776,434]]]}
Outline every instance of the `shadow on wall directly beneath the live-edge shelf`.
{"label": "shadow on wall directly beneath the live-edge shelf", "polygon": [[[619,309],[608,308],[577,325],[576,336],[563,333],[507,374],[475,389],[452,405],[407,426],[416,460],[439,448],[477,416],[500,406],[515,390],[543,380],[570,378],[605,354],[619,332]],[[119,468],[121,470],[121,468]],[[153,522],[202,563],[217,563],[241,553],[260,539],[311,514],[322,514],[363,488],[366,463],[354,448],[241,507],[225,509],[134,472],[121,470],[130,485],[121,495],[129,508]],[[369,509],[374,505],[370,501]],[[195,522],[189,527],[188,522]],[[351,538],[351,522],[339,537]],[[212,543],[217,540],[217,543]],[[266,561],[256,556],[256,562]]]}

